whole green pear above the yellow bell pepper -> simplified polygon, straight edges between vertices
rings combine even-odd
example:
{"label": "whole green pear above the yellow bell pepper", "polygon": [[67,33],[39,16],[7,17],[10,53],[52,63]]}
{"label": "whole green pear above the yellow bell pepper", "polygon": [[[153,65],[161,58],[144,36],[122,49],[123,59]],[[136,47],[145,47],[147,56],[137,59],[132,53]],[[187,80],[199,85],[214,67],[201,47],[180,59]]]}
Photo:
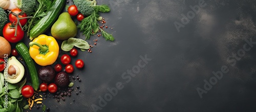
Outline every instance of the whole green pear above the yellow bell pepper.
{"label": "whole green pear above the yellow bell pepper", "polygon": [[52,36],[59,40],[67,40],[70,37],[75,37],[76,33],[76,24],[68,12],[61,13],[51,28]]}

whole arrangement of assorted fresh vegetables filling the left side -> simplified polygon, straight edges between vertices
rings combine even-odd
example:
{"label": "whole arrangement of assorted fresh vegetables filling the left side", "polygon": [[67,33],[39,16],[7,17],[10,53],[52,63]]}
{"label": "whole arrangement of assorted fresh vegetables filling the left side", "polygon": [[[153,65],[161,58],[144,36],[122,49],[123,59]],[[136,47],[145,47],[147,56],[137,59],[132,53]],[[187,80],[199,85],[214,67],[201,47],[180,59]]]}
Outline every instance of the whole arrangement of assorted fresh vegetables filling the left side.
{"label": "whole arrangement of assorted fresh vegetables filling the left side", "polygon": [[[114,41],[113,35],[98,24],[101,20],[105,23],[99,13],[110,12],[108,5],[97,5],[95,0],[73,0],[74,5],[62,12],[65,3],[66,0],[0,0],[0,111],[33,107],[49,110],[42,103],[47,92],[57,102],[60,98],[65,101],[65,96],[74,91],[71,87],[75,81],[81,82],[78,75],[72,76],[75,68],[82,70],[86,65],[83,59],[74,63],[71,60],[80,51],[92,53],[93,46],[86,40],[101,32],[106,40]],[[72,16],[76,16],[78,24]],[[51,30],[51,36],[45,35],[47,30]],[[75,37],[77,30],[85,39]],[[29,44],[24,42],[26,35]],[[59,57],[59,52],[64,54]],[[78,92],[81,91],[76,95]]]}

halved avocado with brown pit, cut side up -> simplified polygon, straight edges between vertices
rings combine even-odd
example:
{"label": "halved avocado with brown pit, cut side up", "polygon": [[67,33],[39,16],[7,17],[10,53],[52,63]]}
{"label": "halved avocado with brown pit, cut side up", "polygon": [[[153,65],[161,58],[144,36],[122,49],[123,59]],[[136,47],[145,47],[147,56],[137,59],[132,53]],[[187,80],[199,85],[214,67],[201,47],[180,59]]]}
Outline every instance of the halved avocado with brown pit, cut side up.
{"label": "halved avocado with brown pit, cut side up", "polygon": [[5,69],[4,76],[9,83],[18,83],[21,81],[25,74],[25,68],[14,56],[8,58],[7,68]]}

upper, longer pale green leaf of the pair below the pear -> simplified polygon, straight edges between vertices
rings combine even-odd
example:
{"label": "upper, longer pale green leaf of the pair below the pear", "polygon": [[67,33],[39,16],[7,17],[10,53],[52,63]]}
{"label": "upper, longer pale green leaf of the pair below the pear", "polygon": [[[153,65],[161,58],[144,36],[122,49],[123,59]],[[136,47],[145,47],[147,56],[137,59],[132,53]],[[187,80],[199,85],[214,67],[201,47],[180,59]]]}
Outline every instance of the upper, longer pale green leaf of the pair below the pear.
{"label": "upper, longer pale green leaf of the pair below the pear", "polygon": [[80,39],[80,38],[69,38],[68,44],[71,44],[77,48],[80,49],[86,49],[88,50],[90,48],[88,42],[86,40]]}

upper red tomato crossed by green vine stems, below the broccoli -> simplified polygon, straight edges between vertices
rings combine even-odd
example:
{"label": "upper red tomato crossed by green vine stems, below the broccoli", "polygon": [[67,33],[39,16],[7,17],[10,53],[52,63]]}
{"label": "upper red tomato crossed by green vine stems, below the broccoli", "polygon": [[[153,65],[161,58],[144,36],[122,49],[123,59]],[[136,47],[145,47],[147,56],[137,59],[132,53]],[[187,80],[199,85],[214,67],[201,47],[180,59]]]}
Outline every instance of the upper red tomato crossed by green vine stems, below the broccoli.
{"label": "upper red tomato crossed by green vine stems, below the broccoli", "polygon": [[[22,10],[20,10],[19,8],[15,8],[11,10],[12,12],[19,14],[18,17],[22,18],[22,17],[27,17],[26,13],[23,13]],[[22,12],[22,13],[20,13]],[[17,16],[13,15],[12,13],[9,14],[9,20],[11,21],[11,23],[15,22],[15,24],[17,23]],[[28,18],[24,18],[24,19],[19,19],[19,23],[24,26],[28,21]]]}

